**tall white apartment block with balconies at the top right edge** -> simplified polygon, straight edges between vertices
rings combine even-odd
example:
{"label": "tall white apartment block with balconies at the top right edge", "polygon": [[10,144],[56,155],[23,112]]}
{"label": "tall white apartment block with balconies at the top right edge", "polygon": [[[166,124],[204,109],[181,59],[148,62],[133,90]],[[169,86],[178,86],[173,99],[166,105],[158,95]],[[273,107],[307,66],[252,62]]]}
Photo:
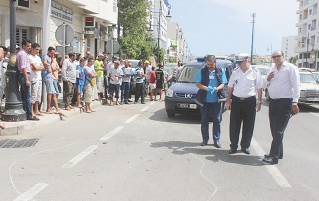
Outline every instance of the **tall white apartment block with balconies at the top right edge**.
{"label": "tall white apartment block with balconies at the top right edge", "polygon": [[297,0],[298,35],[294,52],[299,55],[298,67],[319,69],[319,0]]}

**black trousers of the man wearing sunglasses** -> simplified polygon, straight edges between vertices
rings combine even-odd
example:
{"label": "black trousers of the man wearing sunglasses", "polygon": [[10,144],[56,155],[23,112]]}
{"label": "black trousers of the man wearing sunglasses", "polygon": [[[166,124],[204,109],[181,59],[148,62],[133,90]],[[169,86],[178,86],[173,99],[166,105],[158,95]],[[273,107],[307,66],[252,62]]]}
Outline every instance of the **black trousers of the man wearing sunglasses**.
{"label": "black trousers of the man wearing sunglasses", "polygon": [[270,99],[269,102],[269,122],[272,135],[269,155],[277,159],[284,155],[282,140],[292,114],[292,101],[291,98],[280,98]]}

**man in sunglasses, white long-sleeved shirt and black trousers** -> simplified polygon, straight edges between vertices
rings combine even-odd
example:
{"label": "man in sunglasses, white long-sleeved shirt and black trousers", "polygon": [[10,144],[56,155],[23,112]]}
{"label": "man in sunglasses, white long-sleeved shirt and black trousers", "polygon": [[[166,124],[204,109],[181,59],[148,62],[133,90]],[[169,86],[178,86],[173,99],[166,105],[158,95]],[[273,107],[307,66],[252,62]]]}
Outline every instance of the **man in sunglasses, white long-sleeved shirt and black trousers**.
{"label": "man in sunglasses, white long-sleeved shirt and black trousers", "polygon": [[269,121],[272,143],[269,155],[265,155],[263,162],[277,164],[283,158],[284,131],[293,114],[299,112],[298,100],[300,96],[300,75],[298,68],[285,61],[282,51],[275,51],[272,59],[275,66],[271,67],[264,85],[269,91]]}

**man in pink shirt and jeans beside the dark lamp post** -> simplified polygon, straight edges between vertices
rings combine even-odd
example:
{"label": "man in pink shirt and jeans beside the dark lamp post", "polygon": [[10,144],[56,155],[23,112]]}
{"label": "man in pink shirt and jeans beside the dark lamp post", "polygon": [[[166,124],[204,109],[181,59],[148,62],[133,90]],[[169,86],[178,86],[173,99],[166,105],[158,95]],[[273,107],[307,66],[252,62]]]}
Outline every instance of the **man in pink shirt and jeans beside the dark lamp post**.
{"label": "man in pink shirt and jeans beside the dark lamp post", "polygon": [[39,120],[37,116],[34,115],[31,109],[31,98],[32,98],[32,86],[31,86],[31,67],[30,59],[28,57],[28,52],[31,49],[31,41],[26,39],[23,40],[22,49],[17,54],[18,69],[19,69],[19,84],[21,85],[21,98],[23,103],[23,109],[26,111],[27,120]]}

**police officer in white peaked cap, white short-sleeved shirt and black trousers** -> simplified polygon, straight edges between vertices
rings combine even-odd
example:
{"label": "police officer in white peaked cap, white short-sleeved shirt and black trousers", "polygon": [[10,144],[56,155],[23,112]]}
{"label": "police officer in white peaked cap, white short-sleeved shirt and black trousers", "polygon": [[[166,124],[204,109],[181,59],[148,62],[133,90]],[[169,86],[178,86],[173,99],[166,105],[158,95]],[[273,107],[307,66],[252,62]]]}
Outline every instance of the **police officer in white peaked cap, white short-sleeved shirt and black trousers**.
{"label": "police officer in white peaked cap, white short-sleeved shirt and black trousers", "polygon": [[[249,146],[253,136],[256,111],[261,108],[263,79],[255,66],[249,64],[249,54],[235,55],[239,67],[234,69],[228,82],[226,107],[230,112],[230,150],[237,152],[239,134],[242,126],[241,151],[250,154]],[[256,94],[258,102],[256,103]]]}

